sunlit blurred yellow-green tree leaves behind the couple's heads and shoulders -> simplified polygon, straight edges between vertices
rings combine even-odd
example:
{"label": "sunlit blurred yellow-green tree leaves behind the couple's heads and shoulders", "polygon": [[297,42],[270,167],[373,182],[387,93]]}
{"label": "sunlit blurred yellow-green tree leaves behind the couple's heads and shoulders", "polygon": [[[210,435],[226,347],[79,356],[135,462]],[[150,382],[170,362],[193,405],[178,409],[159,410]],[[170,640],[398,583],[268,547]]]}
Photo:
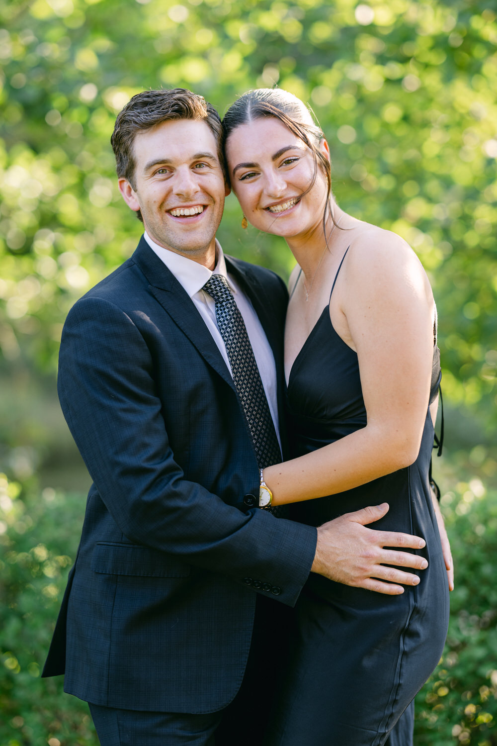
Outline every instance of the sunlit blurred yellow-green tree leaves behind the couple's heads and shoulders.
{"label": "sunlit blurred yellow-green tree leaves behind the couple's heads and shoulders", "polygon": [[[486,0],[3,0],[0,344],[55,366],[70,305],[136,245],[109,138],[148,87],[191,87],[221,113],[250,87],[314,108],[335,195],[413,246],[434,286],[444,389],[496,422],[497,20]],[[279,239],[227,251],[288,275]]]}

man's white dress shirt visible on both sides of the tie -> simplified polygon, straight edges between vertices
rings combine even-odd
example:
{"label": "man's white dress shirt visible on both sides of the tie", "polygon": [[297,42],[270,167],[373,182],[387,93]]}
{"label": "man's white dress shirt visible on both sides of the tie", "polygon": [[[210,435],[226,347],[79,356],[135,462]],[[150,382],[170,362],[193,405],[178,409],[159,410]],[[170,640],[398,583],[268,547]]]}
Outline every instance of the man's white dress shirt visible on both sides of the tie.
{"label": "man's white dress shirt visible on both sides of the tie", "polygon": [[[259,316],[257,316],[249,298],[244,295],[235,280],[227,273],[221,244],[216,239],[216,266],[211,272],[211,270],[207,269],[203,264],[195,262],[188,257],[184,257],[183,254],[176,254],[168,248],[159,246],[159,244],[151,239],[146,231],[144,236],[152,251],[155,252],[159,259],[173,273],[174,277],[189,294],[191,301],[193,301],[200,316],[202,316],[206,327],[209,329],[212,339],[214,339],[218,346],[224,362],[227,365],[229,374],[232,376],[226,346],[224,345],[224,340],[219,332],[218,322],[216,321],[214,298],[202,289],[212,275],[223,275],[223,277],[226,278],[229,288],[232,290],[238,310],[244,319],[245,327],[247,327],[250,345],[252,345],[253,354],[256,358],[259,374],[261,375],[262,386],[264,386],[269,410],[279,440],[278,404],[276,398],[276,363],[274,362],[273,351],[270,348],[268,338],[266,337],[262,324],[259,321]],[[279,445],[281,446],[281,442],[279,442]]]}

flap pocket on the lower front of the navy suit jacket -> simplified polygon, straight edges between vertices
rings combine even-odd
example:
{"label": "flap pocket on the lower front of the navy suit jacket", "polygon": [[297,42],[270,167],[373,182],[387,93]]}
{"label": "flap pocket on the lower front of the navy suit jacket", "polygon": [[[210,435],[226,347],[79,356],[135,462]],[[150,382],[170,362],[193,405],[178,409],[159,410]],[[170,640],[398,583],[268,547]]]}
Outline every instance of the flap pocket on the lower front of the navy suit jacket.
{"label": "flap pocket on the lower front of the navy suit jacket", "polygon": [[171,555],[134,544],[98,542],[92,570],[107,575],[188,577],[190,566]]}

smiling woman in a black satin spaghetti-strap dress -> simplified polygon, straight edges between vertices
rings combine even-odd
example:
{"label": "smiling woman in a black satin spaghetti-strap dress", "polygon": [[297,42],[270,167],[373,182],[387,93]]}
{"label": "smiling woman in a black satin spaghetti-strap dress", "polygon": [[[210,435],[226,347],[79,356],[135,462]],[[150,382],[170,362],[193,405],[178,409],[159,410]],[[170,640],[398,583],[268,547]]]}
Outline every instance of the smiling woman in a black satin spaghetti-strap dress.
{"label": "smiling woman in a black satin spaghetti-strap dress", "polygon": [[440,383],[431,288],[399,236],[338,207],[328,143],[302,101],[249,91],[224,130],[244,219],[283,236],[297,260],[285,330],[294,458],[262,474],[272,504],[319,526],[387,500],[381,527],[423,536],[428,560],[402,595],[311,575],[265,743],[408,746],[399,718],[440,659],[452,588],[428,483]]}

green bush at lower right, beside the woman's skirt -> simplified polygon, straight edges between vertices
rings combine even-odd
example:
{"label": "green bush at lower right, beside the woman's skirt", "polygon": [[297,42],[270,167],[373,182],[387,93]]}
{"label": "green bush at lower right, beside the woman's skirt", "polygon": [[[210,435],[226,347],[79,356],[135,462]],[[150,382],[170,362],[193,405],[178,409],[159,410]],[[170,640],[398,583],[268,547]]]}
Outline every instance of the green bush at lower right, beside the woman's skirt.
{"label": "green bush at lower right, beside the woman's skirt", "polygon": [[416,745],[497,744],[497,492],[460,482],[442,498],[455,560],[446,649],[417,698]]}

